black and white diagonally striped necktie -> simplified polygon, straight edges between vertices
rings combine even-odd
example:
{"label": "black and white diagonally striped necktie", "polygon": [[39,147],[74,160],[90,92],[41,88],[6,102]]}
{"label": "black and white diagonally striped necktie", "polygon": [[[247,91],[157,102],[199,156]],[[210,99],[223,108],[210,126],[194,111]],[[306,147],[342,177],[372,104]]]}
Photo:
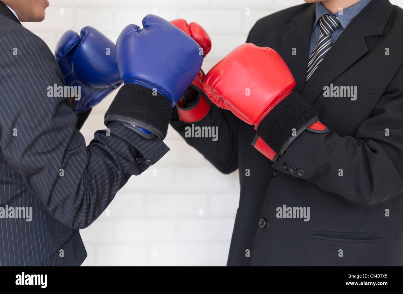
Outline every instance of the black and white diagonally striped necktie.
{"label": "black and white diagonally striped necktie", "polygon": [[314,71],[318,68],[319,63],[322,62],[326,52],[332,48],[332,33],[340,26],[340,21],[335,15],[323,15],[319,19],[320,36],[318,43],[308,61],[308,70],[306,80],[308,80]]}

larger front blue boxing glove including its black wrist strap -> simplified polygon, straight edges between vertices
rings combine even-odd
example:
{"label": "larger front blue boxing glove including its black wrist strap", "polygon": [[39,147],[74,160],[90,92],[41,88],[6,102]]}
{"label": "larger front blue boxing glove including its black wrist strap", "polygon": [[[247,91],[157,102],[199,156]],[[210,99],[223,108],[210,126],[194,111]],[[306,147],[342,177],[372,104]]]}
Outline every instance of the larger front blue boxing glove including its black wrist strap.
{"label": "larger front blue boxing glove including its black wrist strap", "polygon": [[[105,124],[120,121],[142,127],[161,140],[175,106],[203,63],[203,50],[187,33],[147,15],[143,29],[128,25],[116,41],[116,63],[125,85],[105,115]],[[150,138],[141,133],[145,138]]]}

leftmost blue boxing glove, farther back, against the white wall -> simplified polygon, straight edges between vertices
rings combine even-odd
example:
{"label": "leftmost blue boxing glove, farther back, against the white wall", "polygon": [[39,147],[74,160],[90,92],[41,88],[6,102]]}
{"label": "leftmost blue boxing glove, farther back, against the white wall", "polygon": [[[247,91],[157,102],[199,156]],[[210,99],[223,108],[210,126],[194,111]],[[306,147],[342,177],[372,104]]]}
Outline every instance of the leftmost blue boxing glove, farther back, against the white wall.
{"label": "leftmost blue boxing glove, farther back, against the white wall", "polygon": [[67,86],[79,86],[73,111],[88,111],[122,83],[116,65],[115,44],[93,27],[81,36],[66,31],[56,46],[56,60]]}

